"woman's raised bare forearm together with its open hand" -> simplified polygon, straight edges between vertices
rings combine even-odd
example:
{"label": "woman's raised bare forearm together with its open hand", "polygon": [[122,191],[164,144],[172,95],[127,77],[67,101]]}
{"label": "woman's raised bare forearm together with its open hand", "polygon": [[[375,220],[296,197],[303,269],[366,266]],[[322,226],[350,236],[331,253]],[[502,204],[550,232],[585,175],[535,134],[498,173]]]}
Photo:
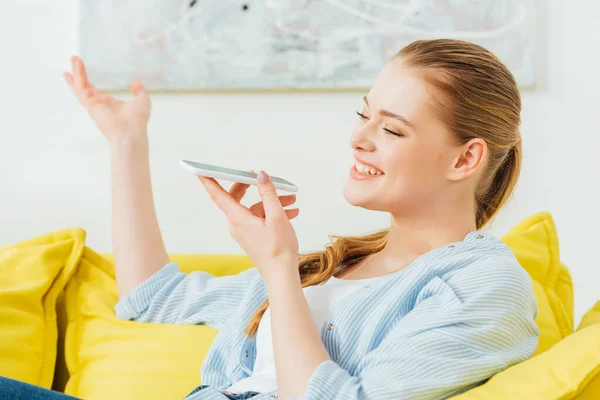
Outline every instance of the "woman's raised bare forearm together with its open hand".
{"label": "woman's raised bare forearm together with its open hand", "polygon": [[118,293],[123,297],[169,262],[150,184],[150,98],[135,79],[132,99],[111,97],[88,81],[83,61],[72,57],[71,63],[73,71],[64,78],[110,145],[113,252]]}

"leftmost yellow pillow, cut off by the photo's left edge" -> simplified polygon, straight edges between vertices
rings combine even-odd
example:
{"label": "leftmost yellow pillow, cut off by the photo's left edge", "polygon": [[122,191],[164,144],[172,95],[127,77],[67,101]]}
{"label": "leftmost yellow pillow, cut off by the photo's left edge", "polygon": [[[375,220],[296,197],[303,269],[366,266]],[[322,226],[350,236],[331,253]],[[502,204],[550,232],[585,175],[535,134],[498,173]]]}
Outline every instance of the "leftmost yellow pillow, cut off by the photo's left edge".
{"label": "leftmost yellow pillow, cut off by the photo's left edge", "polygon": [[56,299],[85,232],[65,229],[0,248],[0,376],[49,389],[56,361]]}

